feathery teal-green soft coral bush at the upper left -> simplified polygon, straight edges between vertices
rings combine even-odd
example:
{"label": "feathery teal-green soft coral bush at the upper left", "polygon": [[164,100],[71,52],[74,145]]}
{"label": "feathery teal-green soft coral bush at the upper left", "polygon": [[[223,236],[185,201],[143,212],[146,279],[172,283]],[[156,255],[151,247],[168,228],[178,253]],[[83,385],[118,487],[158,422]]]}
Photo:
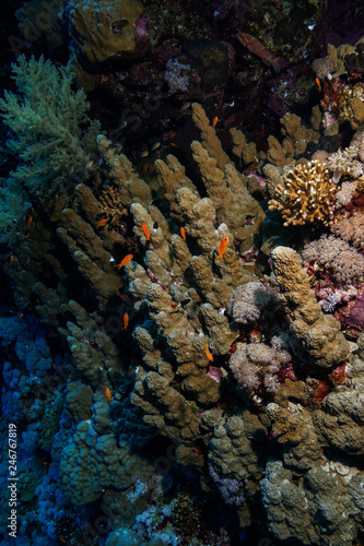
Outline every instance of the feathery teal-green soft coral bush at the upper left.
{"label": "feathery teal-green soft coral bush at the upper left", "polygon": [[90,121],[90,104],[74,93],[72,64],[57,68],[42,56],[24,55],[12,64],[17,94],[5,91],[0,100],[4,122],[15,138],[8,146],[23,161],[12,173],[30,193],[44,192],[84,169],[96,150],[98,121]]}

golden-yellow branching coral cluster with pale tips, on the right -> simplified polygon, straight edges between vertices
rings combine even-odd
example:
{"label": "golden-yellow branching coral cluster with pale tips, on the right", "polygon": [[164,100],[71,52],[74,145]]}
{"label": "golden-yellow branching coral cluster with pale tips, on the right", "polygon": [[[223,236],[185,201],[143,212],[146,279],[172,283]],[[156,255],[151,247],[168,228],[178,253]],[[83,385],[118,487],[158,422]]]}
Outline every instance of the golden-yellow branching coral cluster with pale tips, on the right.
{"label": "golden-yellow branching coral cluster with pale tips, on the right", "polygon": [[269,201],[268,207],[282,213],[284,226],[322,222],[331,216],[337,187],[325,165],[317,161],[296,165],[283,176],[283,181],[277,186],[275,199]]}

